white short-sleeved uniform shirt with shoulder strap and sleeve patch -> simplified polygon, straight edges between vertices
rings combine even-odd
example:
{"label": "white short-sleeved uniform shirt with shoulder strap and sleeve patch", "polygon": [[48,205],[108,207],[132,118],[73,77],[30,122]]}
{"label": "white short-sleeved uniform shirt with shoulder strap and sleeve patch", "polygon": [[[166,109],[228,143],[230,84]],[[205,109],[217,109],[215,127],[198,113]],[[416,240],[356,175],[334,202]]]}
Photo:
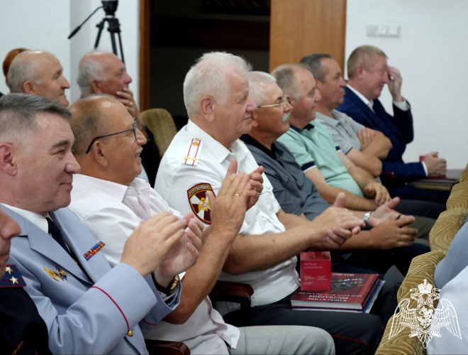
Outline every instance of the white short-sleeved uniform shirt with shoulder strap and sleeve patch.
{"label": "white short-sleeved uniform shirt with shoulder strap and sleeve patch", "polygon": [[[196,145],[192,146],[193,143]],[[215,195],[218,193],[233,158],[238,160],[239,171],[251,173],[258,168],[255,158],[242,141],[233,142],[229,151],[189,120],[176,134],[161,160],[155,189],[170,207],[182,213],[194,212],[209,224],[209,210],[204,208],[204,190],[211,187]],[[240,229],[240,234],[252,234],[252,238],[285,231],[276,215],[281,207],[274,198],[273,187],[266,175],[263,175],[263,180],[263,193],[257,204],[245,214]],[[201,194],[194,192],[197,189]],[[255,255],[251,257],[255,258]],[[297,258],[293,257],[266,270],[242,275],[221,273],[220,280],[250,284],[254,289],[252,306],[269,305],[299,287],[296,262]]]}

